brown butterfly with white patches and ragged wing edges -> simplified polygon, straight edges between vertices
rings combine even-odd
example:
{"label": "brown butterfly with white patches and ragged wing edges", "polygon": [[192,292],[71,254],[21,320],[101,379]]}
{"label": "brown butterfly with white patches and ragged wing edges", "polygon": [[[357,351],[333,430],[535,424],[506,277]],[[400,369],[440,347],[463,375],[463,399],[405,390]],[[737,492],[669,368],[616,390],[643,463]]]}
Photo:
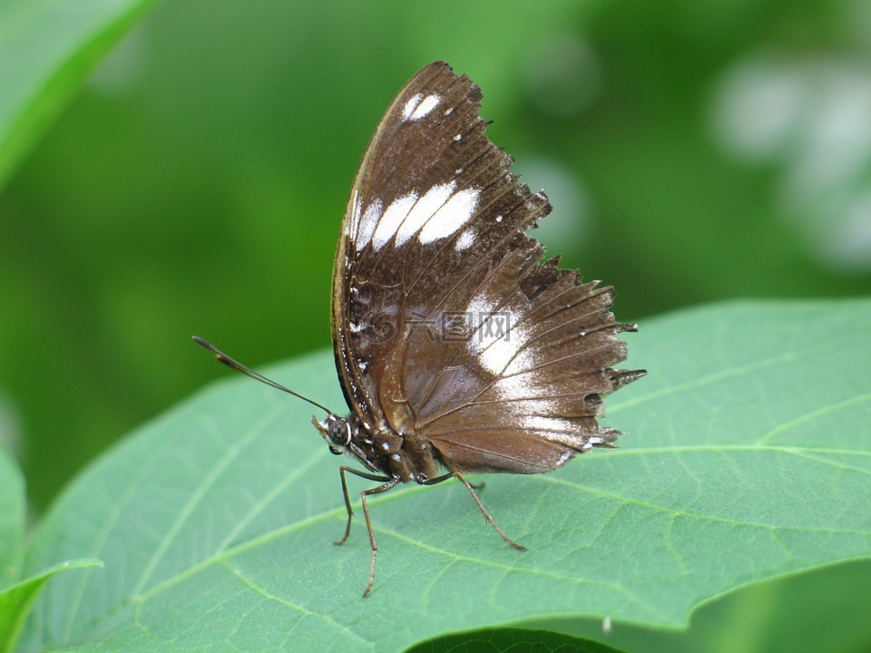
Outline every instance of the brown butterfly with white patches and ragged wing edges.
{"label": "brown butterfly with white patches and ragged wing edges", "polygon": [[602,397],[646,374],[617,370],[613,290],[543,260],[525,232],[551,211],[511,173],[484,133],[481,91],[444,62],[427,65],[390,104],[348,200],[333,269],[332,335],[350,409],[340,417],[220,352],[226,365],[318,406],[312,418],[348,473],[377,486],[360,495],[375,581],[367,497],[399,483],[463,483],[484,519],[515,549],[467,473],[543,473],[620,434],[600,426]]}

